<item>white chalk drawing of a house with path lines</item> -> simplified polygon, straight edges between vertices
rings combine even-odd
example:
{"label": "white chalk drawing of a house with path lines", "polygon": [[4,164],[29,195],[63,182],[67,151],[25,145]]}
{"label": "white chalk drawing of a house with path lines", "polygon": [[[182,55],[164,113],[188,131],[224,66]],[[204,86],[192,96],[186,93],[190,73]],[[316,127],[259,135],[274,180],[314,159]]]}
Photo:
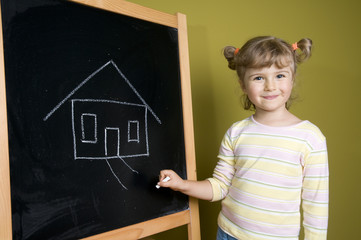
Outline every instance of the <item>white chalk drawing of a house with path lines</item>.
{"label": "white chalk drawing of a house with path lines", "polygon": [[[137,96],[138,103],[73,98],[80,88],[107,66],[116,69],[119,79]],[[137,172],[124,159],[149,156],[148,115],[150,113],[159,124],[160,119],[112,60],[83,80],[43,120],[47,121],[68,101],[71,102],[74,159],[105,160],[114,177],[126,189],[108,160],[120,159],[133,172]]]}

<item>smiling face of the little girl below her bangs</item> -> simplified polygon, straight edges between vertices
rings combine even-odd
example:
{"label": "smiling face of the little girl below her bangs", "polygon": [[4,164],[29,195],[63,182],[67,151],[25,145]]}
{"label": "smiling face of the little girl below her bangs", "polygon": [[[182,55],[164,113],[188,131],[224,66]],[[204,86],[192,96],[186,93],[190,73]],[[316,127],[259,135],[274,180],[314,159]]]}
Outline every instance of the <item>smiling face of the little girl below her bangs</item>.
{"label": "smiling face of the little girl below her bangs", "polygon": [[286,102],[293,88],[291,67],[248,68],[242,89],[256,106],[256,111],[277,112],[286,110]]}

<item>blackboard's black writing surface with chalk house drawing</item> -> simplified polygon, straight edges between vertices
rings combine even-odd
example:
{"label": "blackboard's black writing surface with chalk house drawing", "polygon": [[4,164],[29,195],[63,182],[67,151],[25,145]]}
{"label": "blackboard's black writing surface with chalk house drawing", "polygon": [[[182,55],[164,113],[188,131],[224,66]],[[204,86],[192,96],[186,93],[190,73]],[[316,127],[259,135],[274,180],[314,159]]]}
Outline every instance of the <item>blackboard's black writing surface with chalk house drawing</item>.
{"label": "blackboard's black writing surface with chalk house drawing", "polygon": [[2,0],[13,239],[79,239],[188,211],[178,28]]}

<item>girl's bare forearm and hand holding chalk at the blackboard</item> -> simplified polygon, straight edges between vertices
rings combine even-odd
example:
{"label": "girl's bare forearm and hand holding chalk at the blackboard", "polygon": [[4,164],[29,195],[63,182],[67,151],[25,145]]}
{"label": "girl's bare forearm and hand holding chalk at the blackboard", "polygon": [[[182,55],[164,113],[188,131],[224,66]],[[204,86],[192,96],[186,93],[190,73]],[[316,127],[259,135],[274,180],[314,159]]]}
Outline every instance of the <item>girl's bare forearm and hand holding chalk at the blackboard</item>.
{"label": "girl's bare forearm and hand holding chalk at the blackboard", "polygon": [[[162,182],[162,180],[167,176],[170,180],[168,182]],[[213,198],[212,186],[208,180],[183,180],[173,170],[162,170],[160,172],[158,185],[161,187],[171,188],[174,191],[179,191],[188,196],[202,200],[211,201]]]}

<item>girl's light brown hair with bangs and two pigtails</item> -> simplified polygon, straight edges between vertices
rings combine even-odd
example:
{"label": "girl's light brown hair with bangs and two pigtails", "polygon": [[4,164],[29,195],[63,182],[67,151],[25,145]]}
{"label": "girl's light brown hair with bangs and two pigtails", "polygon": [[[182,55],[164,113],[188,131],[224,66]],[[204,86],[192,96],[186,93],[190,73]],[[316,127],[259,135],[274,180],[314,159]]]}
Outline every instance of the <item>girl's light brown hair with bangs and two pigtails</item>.
{"label": "girl's light brown hair with bangs and two pigtails", "polygon": [[[311,56],[312,40],[303,38],[295,43],[295,46],[297,46],[297,49],[294,49],[291,44],[280,38],[261,36],[248,40],[240,49],[226,46],[223,49],[223,54],[228,61],[228,67],[237,72],[239,83],[243,87],[244,75],[248,68],[271,67],[273,64],[278,68],[291,66],[294,78],[297,64],[306,61]],[[287,101],[287,109],[294,99],[295,97],[292,94]],[[255,109],[254,104],[248,99],[247,95],[242,96],[242,102],[244,109]]]}

